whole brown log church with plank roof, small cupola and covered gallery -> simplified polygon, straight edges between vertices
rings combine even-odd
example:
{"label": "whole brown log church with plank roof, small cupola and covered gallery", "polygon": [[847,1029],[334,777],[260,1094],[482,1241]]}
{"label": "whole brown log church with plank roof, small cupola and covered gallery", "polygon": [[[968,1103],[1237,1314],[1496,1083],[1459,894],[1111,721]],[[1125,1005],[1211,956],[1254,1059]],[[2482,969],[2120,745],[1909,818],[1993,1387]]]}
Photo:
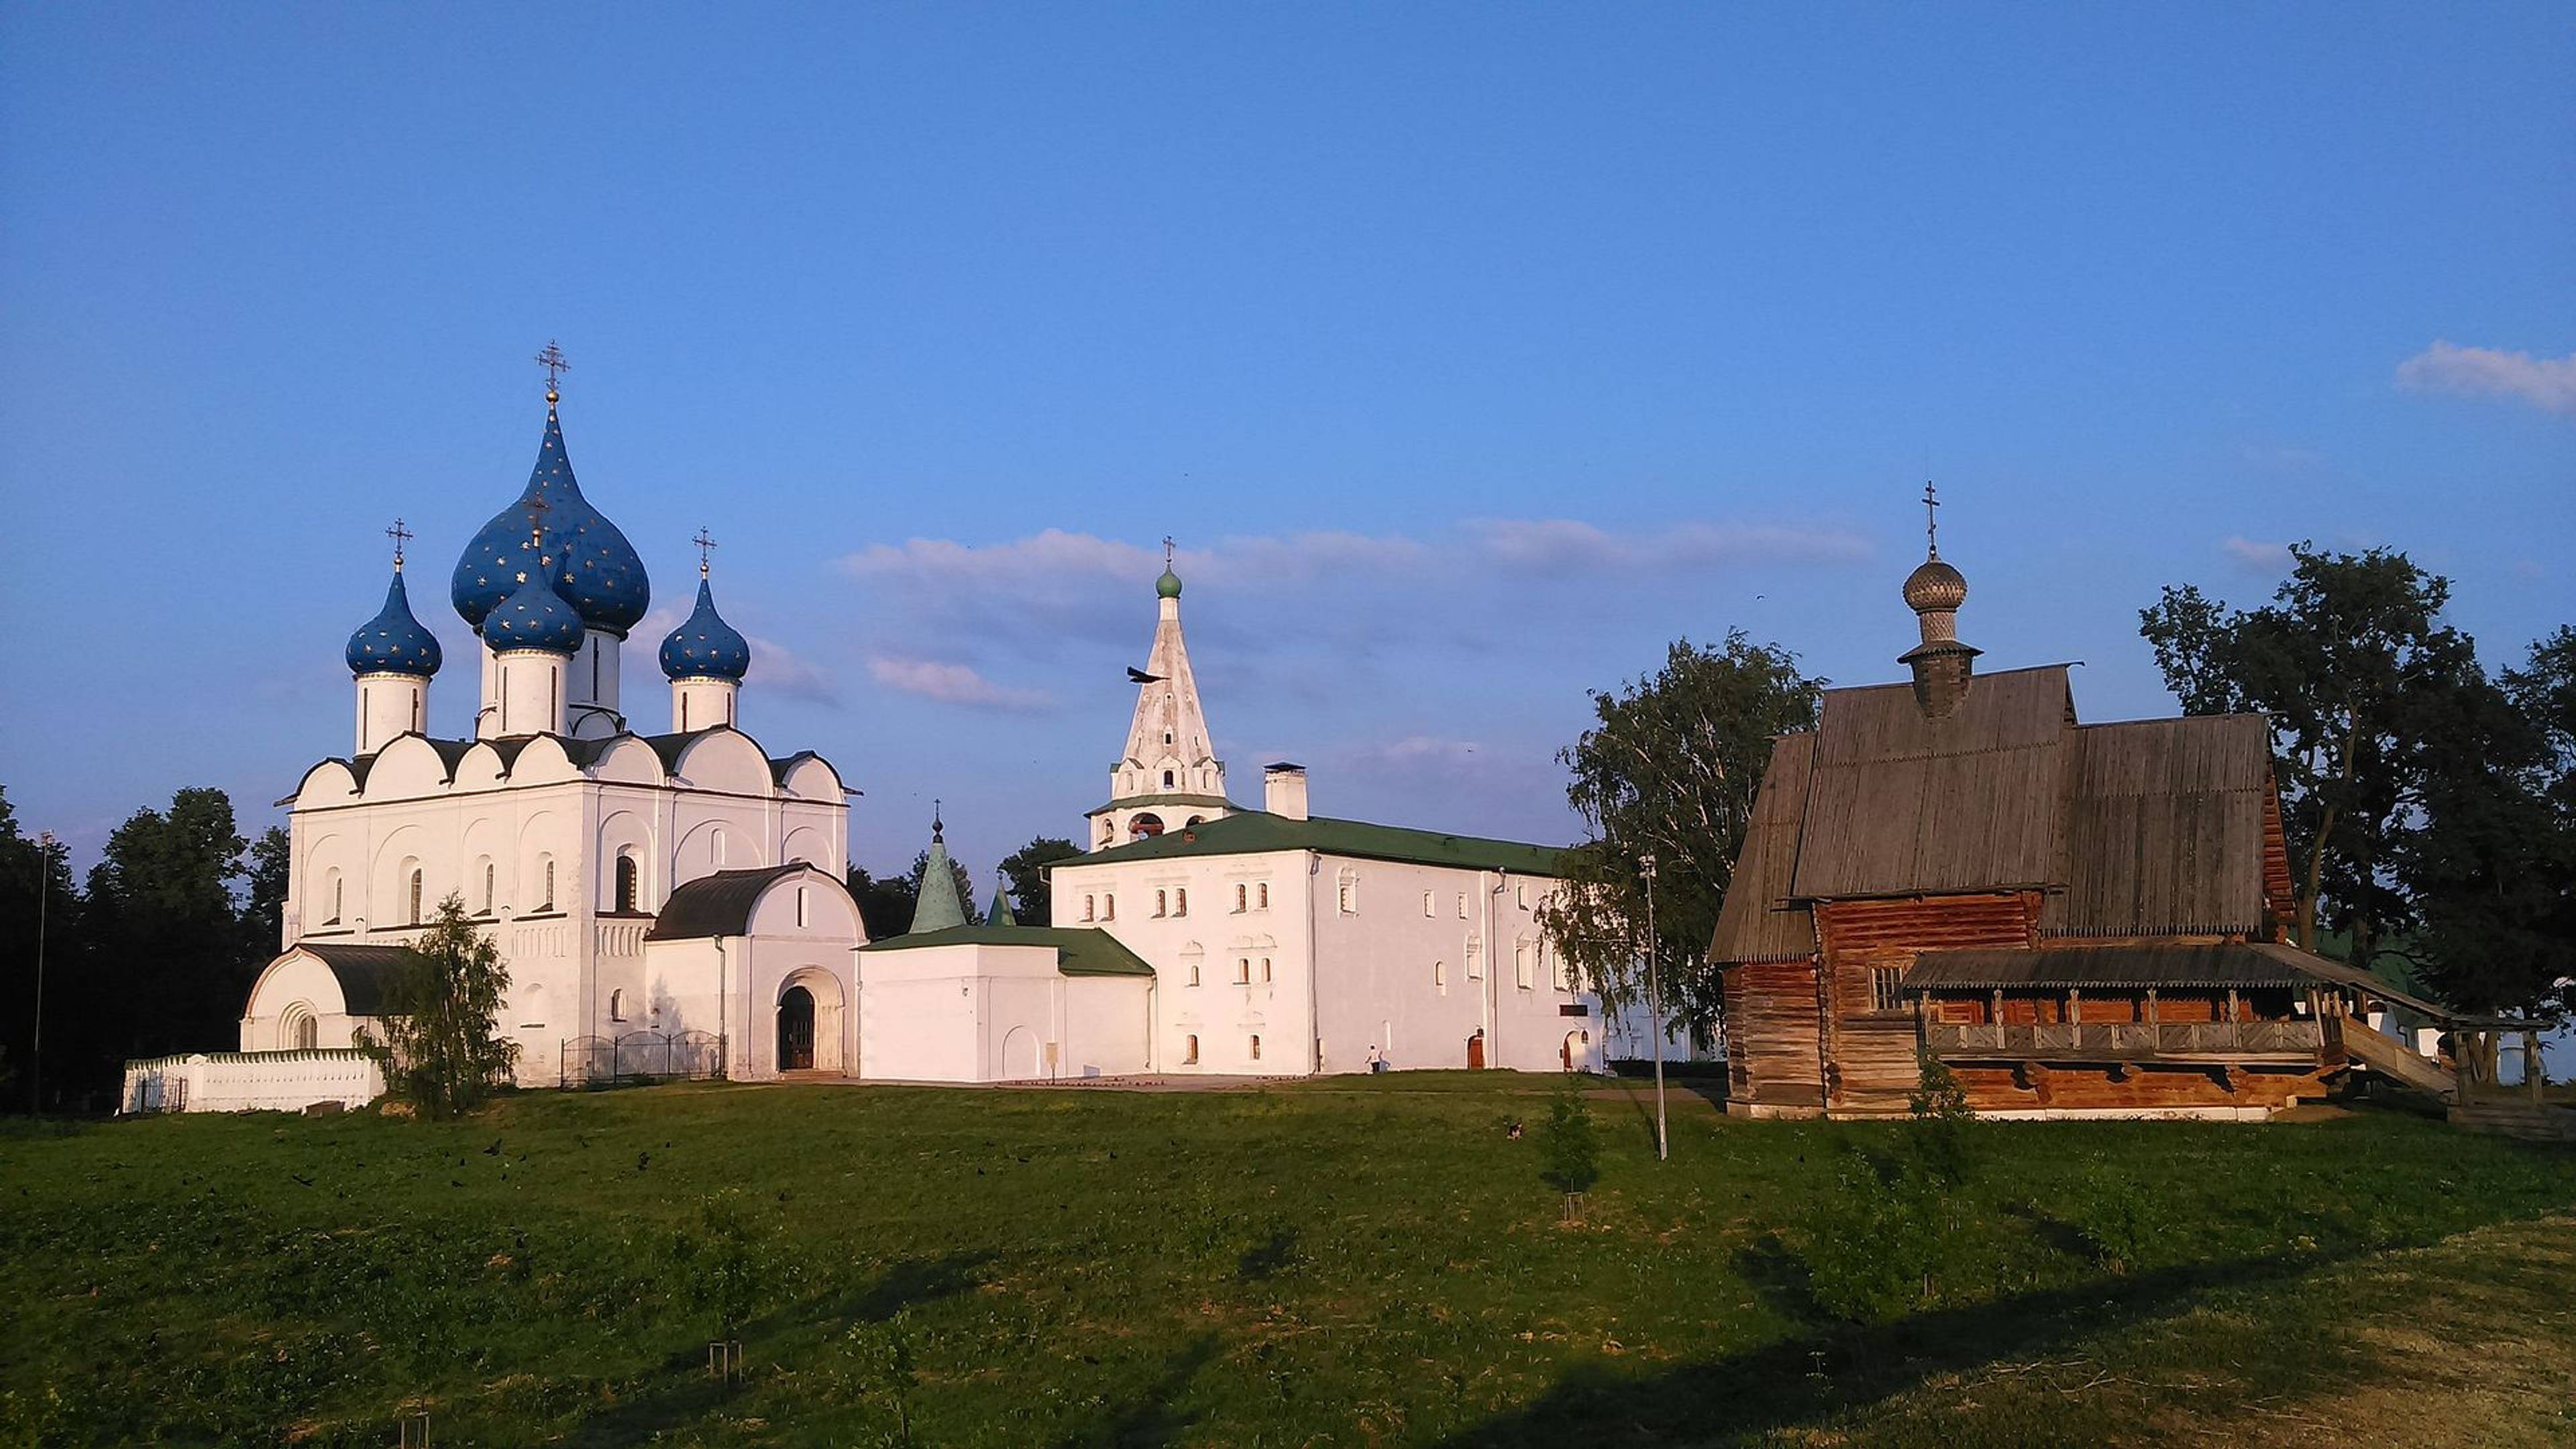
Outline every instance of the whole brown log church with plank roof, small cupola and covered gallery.
{"label": "whole brown log church with plank roof, small cupola and covered gallery", "polygon": [[2347,1031],[2393,993],[2285,944],[2262,717],[2079,724],[2069,665],[1973,670],[1937,541],[1904,598],[1914,681],[1826,691],[1762,776],[1710,944],[1728,1111],[1901,1116],[1919,1049],[1999,1116],[2269,1116],[2409,1070]]}

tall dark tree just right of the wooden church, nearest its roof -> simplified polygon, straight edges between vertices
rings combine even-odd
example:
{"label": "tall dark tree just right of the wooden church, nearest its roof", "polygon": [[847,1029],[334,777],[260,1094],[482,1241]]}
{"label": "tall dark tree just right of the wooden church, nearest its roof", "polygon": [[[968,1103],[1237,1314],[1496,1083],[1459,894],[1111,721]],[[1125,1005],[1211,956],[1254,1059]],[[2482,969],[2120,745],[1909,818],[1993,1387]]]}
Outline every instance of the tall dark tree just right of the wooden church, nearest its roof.
{"label": "tall dark tree just right of the wooden church, nearest its roof", "polygon": [[2370,967],[2414,920],[2398,866],[2427,820],[2429,755],[2486,678],[2468,634],[2442,624],[2450,580],[2393,549],[2290,554],[2272,603],[2166,588],[2141,634],[2184,714],[2269,717],[2298,944],[2316,949],[2324,923]]}

